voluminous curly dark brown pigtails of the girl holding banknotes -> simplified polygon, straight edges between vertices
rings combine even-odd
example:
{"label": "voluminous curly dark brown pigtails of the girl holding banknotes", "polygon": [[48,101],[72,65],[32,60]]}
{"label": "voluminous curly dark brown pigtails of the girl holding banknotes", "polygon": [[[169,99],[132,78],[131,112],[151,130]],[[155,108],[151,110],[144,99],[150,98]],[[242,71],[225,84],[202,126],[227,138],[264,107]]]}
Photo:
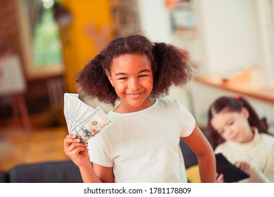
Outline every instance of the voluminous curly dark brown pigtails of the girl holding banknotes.
{"label": "voluminous curly dark brown pigtails of the girl holding banknotes", "polygon": [[190,61],[187,51],[171,44],[152,43],[141,34],[117,37],[95,56],[77,75],[77,88],[82,96],[115,105],[117,94],[105,70],[111,73],[113,58],[124,54],[145,54],[152,64],[153,98],[169,94],[171,84],[185,85],[197,66]]}

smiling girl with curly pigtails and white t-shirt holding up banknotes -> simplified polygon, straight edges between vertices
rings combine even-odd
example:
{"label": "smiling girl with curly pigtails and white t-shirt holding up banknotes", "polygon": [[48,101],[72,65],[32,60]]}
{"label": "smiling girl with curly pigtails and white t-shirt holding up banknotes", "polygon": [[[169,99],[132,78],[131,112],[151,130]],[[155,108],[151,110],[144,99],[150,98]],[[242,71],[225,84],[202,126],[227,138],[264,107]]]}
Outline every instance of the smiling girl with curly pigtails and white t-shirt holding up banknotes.
{"label": "smiling girl with curly pigtails and white t-shirt holding up banknotes", "polygon": [[73,135],[64,140],[83,182],[187,182],[181,138],[197,155],[201,181],[215,182],[214,152],[193,115],[159,98],[172,84],[186,84],[194,69],[186,51],[131,34],[79,72],[79,94],[115,106],[107,113],[112,125],[88,145]]}

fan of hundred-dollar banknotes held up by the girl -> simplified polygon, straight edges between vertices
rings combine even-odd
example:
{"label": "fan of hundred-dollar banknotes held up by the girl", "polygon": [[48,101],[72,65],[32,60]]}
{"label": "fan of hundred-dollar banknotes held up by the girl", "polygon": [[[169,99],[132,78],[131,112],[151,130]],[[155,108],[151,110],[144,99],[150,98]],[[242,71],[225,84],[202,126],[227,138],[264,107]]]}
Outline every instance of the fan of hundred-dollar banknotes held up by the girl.
{"label": "fan of hundred-dollar banknotes held up by the girl", "polygon": [[64,114],[70,134],[76,134],[87,143],[112,122],[100,108],[92,108],[78,98],[78,94],[64,94]]}

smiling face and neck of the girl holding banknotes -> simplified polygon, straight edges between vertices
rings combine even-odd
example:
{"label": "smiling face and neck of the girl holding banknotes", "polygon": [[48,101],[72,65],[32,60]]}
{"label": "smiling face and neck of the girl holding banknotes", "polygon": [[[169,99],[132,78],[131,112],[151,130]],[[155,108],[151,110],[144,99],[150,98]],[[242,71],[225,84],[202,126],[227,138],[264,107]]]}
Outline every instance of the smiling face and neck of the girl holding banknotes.
{"label": "smiling face and neck of the girl holding banknotes", "polygon": [[121,99],[117,113],[131,113],[151,106],[153,88],[152,65],[148,56],[125,54],[113,59],[111,73],[105,71],[116,94]]}

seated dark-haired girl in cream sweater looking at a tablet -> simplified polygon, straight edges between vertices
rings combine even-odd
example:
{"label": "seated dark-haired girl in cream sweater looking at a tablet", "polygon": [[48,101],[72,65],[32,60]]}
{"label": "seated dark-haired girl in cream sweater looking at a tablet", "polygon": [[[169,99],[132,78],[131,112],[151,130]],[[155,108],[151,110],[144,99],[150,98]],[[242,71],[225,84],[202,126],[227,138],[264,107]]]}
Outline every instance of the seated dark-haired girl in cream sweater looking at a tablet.
{"label": "seated dark-haired girl in cream sweater looking at a tablet", "polygon": [[[242,96],[221,96],[208,112],[208,138],[216,153],[249,174],[240,182],[274,182],[274,137]],[[216,182],[224,182],[216,174]]]}

